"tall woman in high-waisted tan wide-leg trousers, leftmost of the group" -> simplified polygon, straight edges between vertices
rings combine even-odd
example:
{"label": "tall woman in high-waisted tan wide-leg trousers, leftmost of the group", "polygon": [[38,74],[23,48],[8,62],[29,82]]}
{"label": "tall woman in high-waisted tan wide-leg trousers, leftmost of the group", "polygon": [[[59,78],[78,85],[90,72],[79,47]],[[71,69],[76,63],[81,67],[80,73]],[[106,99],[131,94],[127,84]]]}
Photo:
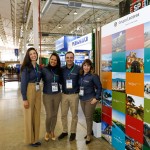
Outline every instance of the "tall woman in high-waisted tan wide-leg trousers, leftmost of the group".
{"label": "tall woman in high-waisted tan wide-leg trousers, leftmost of the group", "polygon": [[33,147],[41,145],[39,140],[41,112],[41,68],[37,64],[35,48],[27,50],[21,66],[21,94],[24,105],[25,141]]}

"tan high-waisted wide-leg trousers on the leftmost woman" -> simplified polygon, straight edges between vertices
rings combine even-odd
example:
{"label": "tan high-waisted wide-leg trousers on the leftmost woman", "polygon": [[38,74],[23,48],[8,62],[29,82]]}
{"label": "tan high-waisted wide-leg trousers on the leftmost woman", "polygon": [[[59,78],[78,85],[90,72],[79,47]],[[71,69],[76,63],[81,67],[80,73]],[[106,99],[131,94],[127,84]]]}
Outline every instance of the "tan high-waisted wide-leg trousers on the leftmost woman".
{"label": "tan high-waisted wide-leg trousers on the leftmost woman", "polygon": [[36,91],[35,83],[29,83],[27,87],[27,100],[29,108],[24,109],[25,142],[35,143],[39,140],[41,90]]}

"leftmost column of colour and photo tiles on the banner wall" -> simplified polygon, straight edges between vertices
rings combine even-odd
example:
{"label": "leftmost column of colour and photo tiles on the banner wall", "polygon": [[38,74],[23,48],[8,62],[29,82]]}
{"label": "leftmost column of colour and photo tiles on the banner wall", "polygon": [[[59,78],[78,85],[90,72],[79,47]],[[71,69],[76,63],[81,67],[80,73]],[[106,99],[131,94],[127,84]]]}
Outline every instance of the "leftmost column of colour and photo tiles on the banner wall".
{"label": "leftmost column of colour and photo tiles on the banner wall", "polygon": [[112,38],[101,39],[102,137],[112,143]]}

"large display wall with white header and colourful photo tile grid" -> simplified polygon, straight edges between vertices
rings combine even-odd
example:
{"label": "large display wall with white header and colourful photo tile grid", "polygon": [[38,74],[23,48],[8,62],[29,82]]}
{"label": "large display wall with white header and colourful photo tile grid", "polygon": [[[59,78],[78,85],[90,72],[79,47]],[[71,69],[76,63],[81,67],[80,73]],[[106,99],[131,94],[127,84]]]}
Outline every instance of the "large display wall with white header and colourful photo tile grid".
{"label": "large display wall with white header and colourful photo tile grid", "polygon": [[150,149],[148,13],[150,6],[102,27],[102,137],[117,150]]}

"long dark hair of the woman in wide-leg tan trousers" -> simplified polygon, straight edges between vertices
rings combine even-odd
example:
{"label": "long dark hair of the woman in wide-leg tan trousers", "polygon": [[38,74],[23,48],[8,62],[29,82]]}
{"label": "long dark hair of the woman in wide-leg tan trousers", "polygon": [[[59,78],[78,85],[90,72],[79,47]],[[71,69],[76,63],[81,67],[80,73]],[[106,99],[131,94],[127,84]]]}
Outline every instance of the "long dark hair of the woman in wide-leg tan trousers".
{"label": "long dark hair of the woman in wide-leg tan trousers", "polygon": [[[29,56],[29,52],[30,52],[31,50],[34,50],[34,51],[36,52],[36,54],[37,54],[37,59],[38,59],[38,53],[37,53],[36,49],[35,49],[34,47],[30,47],[30,48],[27,50],[26,55],[25,55],[25,57],[24,57],[24,60],[23,60],[22,66],[21,66],[21,72],[23,71],[23,69],[24,69],[25,67],[27,67],[27,68],[32,68],[31,59],[30,59],[30,56]],[[37,59],[36,59],[36,60],[37,60]]]}

